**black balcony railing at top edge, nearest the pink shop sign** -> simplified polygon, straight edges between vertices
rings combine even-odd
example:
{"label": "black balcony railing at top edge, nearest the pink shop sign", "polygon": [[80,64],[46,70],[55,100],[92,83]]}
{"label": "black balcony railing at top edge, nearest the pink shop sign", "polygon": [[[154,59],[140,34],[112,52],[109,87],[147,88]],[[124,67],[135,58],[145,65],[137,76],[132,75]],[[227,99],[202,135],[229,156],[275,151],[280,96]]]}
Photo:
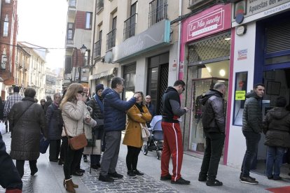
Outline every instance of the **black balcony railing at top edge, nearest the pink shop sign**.
{"label": "black balcony railing at top edge, nearest the pink shop sign", "polygon": [[167,19],[167,0],[153,0],[149,3],[149,27]]}

